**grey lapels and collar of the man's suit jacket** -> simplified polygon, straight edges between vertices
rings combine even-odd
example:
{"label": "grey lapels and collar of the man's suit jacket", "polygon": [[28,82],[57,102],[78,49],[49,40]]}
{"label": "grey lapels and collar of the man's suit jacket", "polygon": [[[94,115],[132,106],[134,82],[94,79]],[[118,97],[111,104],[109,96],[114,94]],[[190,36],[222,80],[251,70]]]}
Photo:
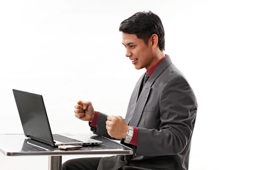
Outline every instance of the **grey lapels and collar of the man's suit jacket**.
{"label": "grey lapels and collar of the man's suit jacket", "polygon": [[[140,86],[137,87],[137,91],[135,92],[134,100],[133,100],[133,105],[134,110],[132,110],[132,115],[131,119],[129,121],[129,126],[135,126],[138,127],[138,124],[140,122],[141,115],[143,113],[145,104],[148,100],[148,96],[151,91],[151,86],[153,85],[154,81],[157,79],[157,77],[166,69],[168,65],[172,63],[171,59],[169,56],[167,56],[157,67],[157,69],[153,72],[151,77],[149,77],[148,81],[146,82],[144,88],[142,89],[141,93],[139,94],[140,91]],[[145,74],[141,78],[144,77]],[[140,83],[138,85],[141,85],[142,79],[140,78]],[[136,100],[135,100],[136,99]],[[138,100],[137,100],[138,99]],[[136,103],[137,101],[137,103]],[[135,103],[135,105],[134,105]]]}

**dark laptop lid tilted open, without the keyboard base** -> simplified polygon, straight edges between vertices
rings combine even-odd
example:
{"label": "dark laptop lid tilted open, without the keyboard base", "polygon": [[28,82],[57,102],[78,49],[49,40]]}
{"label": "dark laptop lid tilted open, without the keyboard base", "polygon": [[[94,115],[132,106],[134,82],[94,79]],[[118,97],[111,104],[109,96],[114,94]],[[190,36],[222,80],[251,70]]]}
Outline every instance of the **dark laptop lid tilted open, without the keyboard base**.
{"label": "dark laptop lid tilted open, without the keyboard base", "polygon": [[13,89],[25,136],[54,145],[43,96]]}

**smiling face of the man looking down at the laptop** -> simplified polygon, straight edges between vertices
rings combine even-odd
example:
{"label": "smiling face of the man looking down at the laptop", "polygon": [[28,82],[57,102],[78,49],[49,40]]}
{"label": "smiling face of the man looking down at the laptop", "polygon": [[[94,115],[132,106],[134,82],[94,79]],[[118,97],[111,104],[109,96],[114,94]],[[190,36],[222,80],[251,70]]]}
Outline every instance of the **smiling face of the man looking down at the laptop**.
{"label": "smiling face of the man looking down at the laptop", "polygon": [[153,61],[152,48],[146,45],[142,39],[139,39],[135,34],[122,33],[122,44],[125,45],[125,56],[129,57],[131,64],[139,70],[148,67]]}

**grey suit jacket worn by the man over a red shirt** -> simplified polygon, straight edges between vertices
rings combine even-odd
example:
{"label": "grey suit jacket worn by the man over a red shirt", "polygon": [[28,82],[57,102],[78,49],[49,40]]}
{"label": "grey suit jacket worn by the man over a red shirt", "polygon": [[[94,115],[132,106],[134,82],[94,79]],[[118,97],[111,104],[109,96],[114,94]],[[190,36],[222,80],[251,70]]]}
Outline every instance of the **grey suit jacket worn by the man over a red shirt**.
{"label": "grey suit jacket worn by the man over a red shirt", "polygon": [[[125,122],[138,127],[134,155],[102,158],[98,170],[117,170],[125,165],[141,168],[188,170],[197,101],[183,74],[167,56],[140,92],[143,74],[128,105]],[[107,115],[100,113],[93,133],[111,138],[106,130]],[[89,124],[90,125],[90,124]],[[140,168],[138,168],[140,169]]]}

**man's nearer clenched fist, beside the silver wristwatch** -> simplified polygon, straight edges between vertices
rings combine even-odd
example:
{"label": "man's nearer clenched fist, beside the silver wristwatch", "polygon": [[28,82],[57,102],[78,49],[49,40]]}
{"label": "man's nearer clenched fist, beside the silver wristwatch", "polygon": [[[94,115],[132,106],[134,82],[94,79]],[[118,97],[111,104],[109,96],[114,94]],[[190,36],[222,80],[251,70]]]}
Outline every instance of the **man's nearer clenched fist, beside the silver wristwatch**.
{"label": "man's nearer clenched fist, beside the silver wristwatch", "polygon": [[125,139],[129,126],[121,116],[108,116],[106,129],[108,135],[116,139]]}

